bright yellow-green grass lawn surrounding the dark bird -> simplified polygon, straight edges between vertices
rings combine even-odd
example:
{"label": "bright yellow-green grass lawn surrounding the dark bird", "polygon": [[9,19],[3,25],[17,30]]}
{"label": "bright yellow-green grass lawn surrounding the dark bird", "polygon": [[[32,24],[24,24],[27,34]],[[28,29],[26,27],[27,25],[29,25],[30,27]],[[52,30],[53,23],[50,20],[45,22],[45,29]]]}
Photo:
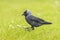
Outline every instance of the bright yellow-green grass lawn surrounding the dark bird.
{"label": "bright yellow-green grass lawn surrounding the dark bird", "polygon": [[[26,9],[52,24],[25,31]],[[60,0],[0,0],[0,40],[60,40]]]}

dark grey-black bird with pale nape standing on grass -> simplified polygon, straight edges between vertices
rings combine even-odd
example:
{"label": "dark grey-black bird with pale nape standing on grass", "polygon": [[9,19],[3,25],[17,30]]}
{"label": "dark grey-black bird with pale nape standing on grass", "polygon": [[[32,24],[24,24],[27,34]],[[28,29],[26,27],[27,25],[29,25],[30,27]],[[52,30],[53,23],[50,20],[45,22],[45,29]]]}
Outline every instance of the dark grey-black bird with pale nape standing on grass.
{"label": "dark grey-black bird with pale nape standing on grass", "polygon": [[34,30],[34,27],[39,27],[44,24],[52,24],[41,18],[33,16],[29,10],[25,10],[23,15],[25,16],[26,21],[31,25],[32,30]]}

